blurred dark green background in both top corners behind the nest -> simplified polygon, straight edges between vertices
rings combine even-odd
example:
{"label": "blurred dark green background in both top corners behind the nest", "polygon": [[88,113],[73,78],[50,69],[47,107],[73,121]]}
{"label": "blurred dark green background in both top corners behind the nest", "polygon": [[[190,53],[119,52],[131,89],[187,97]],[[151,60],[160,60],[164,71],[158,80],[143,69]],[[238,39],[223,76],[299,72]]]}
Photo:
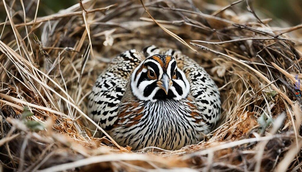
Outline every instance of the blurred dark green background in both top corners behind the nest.
{"label": "blurred dark green background in both top corners behind the nest", "polygon": [[[32,1],[37,2],[37,0]],[[200,0],[201,3],[208,2],[221,6],[228,5],[235,1],[236,0]],[[6,2],[7,4],[11,4],[12,0],[6,0]],[[45,16],[56,13],[60,9],[66,9],[78,2],[79,0],[41,0],[40,7],[43,7],[44,10],[38,11],[38,16]],[[197,1],[194,2],[195,5],[196,2]],[[250,3],[253,4],[255,11],[257,15],[259,15],[259,17],[262,13],[266,17],[270,17],[273,19],[281,19],[283,20],[283,22],[286,22],[292,26],[302,23],[302,0],[250,0]],[[25,4],[25,6],[26,5],[27,4]],[[0,8],[0,21],[3,22],[6,17],[6,12],[3,8],[3,5],[1,6],[2,7]],[[245,1],[235,6],[241,7],[246,10]]]}

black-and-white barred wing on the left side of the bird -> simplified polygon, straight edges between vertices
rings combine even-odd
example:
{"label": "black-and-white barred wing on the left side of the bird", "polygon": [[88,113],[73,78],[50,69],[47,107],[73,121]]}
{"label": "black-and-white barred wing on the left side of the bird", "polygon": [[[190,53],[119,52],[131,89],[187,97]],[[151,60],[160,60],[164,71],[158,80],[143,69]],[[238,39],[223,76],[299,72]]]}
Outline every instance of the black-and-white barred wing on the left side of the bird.
{"label": "black-and-white barred wing on the left side of the bird", "polygon": [[117,120],[118,105],[124,95],[129,76],[144,59],[141,52],[131,49],[116,58],[99,75],[89,95],[89,115],[104,130],[111,130]]}

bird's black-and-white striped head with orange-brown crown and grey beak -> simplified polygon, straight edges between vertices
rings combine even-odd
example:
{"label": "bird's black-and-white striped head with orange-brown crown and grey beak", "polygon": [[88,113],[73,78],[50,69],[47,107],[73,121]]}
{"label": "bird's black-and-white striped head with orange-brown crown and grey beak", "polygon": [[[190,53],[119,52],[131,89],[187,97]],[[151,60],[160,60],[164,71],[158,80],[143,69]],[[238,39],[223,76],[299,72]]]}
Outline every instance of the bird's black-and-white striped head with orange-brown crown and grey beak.
{"label": "bird's black-and-white striped head with orange-brown crown and grey beak", "polygon": [[187,97],[189,82],[169,55],[152,55],[144,60],[131,75],[131,89],[140,100],[179,100]]}

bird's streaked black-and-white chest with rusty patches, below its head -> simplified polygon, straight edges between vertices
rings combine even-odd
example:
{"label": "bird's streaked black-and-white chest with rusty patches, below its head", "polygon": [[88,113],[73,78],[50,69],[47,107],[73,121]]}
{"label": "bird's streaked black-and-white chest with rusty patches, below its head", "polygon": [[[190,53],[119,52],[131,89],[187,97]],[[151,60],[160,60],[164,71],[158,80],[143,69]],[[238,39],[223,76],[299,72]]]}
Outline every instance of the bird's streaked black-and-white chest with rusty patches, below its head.
{"label": "bird's streaked black-and-white chest with rusty patches, below its head", "polygon": [[203,133],[209,132],[209,124],[190,97],[179,101],[129,102],[135,98],[126,96],[109,134],[120,145],[131,145],[134,150],[147,146],[175,150],[196,144],[202,140]]}

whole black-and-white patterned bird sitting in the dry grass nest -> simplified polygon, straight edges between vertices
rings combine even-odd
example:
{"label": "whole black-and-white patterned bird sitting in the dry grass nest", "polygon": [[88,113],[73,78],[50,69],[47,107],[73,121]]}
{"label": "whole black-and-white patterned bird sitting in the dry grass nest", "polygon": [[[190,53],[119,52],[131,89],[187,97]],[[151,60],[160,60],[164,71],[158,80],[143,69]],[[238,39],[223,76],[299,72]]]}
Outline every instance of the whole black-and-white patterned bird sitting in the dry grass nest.
{"label": "whole black-and-white patterned bird sitting in the dry grass nest", "polygon": [[90,117],[134,150],[201,141],[220,115],[214,81],[179,51],[152,45],[144,54],[132,49],[109,64],[89,96]]}

